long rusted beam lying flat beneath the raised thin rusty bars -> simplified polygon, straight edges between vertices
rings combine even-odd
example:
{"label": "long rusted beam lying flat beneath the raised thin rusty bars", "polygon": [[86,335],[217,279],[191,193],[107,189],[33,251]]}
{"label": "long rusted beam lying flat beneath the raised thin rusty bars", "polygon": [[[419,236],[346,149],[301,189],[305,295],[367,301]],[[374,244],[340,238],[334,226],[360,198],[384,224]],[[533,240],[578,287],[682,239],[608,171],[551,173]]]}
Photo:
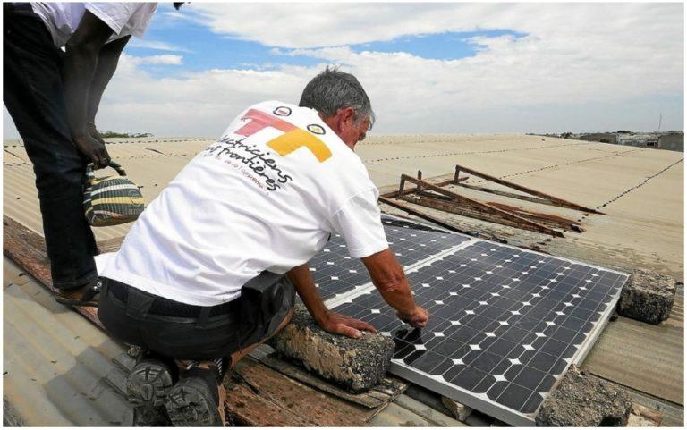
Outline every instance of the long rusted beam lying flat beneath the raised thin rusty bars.
{"label": "long rusted beam lying flat beneath the raised thin rusty bars", "polygon": [[555,237],[564,237],[562,232],[558,232],[542,223],[531,221],[527,218],[514,215],[513,213],[507,211],[504,211],[505,214],[501,214],[496,211],[490,211],[484,207],[472,205],[472,202],[461,202],[455,200],[442,201],[436,198],[417,198],[413,200],[410,200],[410,198],[407,199],[416,205],[431,207],[432,209],[442,210],[451,214],[470,216],[471,218],[477,218],[491,223],[500,223],[516,228],[530,230],[532,232],[550,234],[551,236]]}

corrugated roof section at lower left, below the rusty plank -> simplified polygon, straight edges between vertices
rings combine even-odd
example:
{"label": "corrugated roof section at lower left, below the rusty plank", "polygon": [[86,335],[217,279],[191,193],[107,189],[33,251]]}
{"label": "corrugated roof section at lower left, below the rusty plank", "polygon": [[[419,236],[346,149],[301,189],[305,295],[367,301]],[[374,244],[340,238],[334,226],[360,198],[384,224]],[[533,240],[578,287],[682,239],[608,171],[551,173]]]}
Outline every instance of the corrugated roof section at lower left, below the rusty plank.
{"label": "corrugated roof section at lower left, below the rusty plank", "polygon": [[[129,426],[123,348],[4,257],[4,401],[26,426]],[[8,276],[9,275],[9,276]]]}

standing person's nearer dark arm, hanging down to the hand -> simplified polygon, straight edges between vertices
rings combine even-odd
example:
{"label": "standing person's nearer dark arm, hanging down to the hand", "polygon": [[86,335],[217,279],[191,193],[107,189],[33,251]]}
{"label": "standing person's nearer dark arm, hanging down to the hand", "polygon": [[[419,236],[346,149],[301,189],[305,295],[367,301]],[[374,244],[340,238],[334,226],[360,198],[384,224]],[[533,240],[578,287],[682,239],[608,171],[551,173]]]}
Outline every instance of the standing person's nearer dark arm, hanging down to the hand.
{"label": "standing person's nearer dark arm, hanging down to the hand", "polygon": [[90,136],[86,121],[89,112],[89,89],[98,69],[98,55],[113,30],[86,11],[79,27],[66,45],[62,66],[64,102],[72,139],[77,148],[96,167],[106,165],[109,159],[105,145]]}

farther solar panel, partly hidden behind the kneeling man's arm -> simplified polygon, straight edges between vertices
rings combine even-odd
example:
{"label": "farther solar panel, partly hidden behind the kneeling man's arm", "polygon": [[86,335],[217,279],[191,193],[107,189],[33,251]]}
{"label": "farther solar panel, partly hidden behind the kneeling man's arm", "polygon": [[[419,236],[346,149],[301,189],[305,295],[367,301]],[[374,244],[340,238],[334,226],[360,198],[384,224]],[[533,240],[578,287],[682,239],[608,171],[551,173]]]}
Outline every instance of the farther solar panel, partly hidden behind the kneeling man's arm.
{"label": "farther solar panel, partly hidden behind the kneeling man's arm", "polygon": [[[406,267],[470,240],[462,234],[443,232],[388,215],[382,216],[382,223],[389,247],[399,263]],[[338,234],[333,234],[325,248],[310,259],[309,266],[324,300],[370,282],[367,269],[359,258],[349,256],[345,241]]]}

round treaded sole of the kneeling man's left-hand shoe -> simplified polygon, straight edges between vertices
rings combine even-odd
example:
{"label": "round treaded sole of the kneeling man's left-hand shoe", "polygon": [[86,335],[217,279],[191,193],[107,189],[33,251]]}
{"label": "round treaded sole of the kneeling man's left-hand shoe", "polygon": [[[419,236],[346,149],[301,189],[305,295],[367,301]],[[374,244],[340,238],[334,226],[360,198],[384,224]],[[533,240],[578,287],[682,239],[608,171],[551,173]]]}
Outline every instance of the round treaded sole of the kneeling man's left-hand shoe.
{"label": "round treaded sole of the kneeling man's left-hand shoe", "polygon": [[165,405],[172,389],[169,369],[157,363],[139,363],[126,381],[126,397],[136,407],[159,408]]}

